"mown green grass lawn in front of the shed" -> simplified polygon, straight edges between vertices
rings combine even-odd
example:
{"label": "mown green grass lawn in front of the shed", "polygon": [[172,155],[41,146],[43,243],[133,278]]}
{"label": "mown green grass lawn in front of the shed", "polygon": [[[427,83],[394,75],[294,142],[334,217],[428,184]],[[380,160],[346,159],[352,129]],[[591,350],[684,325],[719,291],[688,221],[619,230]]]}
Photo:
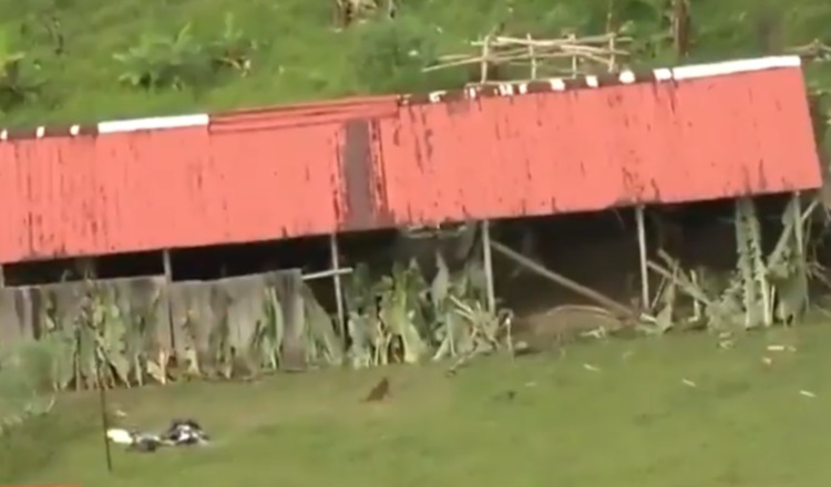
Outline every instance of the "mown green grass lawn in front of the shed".
{"label": "mown green grass lawn in front of the shed", "polygon": [[[0,483],[827,486],[829,339],[825,327],[779,330],[722,350],[712,336],[688,334],[572,345],[562,358],[482,360],[453,379],[438,366],[390,367],[122,391],[111,403],[131,425],[161,428],[192,416],[215,442],[152,455],[115,448],[112,476],[95,396],[69,397],[47,421],[74,414],[73,433],[53,441],[48,462],[35,455],[41,465],[21,457],[53,433],[21,441],[12,458],[27,472],[3,478],[3,458]],[[770,344],[797,351],[769,352]],[[382,374],[394,396],[361,403]]]}

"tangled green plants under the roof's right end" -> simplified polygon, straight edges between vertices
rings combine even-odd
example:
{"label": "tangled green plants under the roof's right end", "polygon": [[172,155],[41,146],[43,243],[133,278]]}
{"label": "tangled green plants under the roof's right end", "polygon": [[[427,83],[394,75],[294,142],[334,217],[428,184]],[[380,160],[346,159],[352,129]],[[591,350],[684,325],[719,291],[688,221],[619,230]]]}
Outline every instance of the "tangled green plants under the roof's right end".
{"label": "tangled green plants under the roof's right end", "polygon": [[[817,199],[804,205],[799,195],[782,210],[776,245],[766,252],[760,215],[751,198],[736,201],[736,268],[730,272],[683,269],[660,252],[661,263],[650,267],[664,279],[652,308],[655,321],[648,333],[700,327],[724,333],[793,324],[810,311],[811,282],[825,290],[824,268],[811,257],[820,241],[811,230]],[[770,226],[768,226],[770,228]],[[768,236],[769,239],[770,236]]]}

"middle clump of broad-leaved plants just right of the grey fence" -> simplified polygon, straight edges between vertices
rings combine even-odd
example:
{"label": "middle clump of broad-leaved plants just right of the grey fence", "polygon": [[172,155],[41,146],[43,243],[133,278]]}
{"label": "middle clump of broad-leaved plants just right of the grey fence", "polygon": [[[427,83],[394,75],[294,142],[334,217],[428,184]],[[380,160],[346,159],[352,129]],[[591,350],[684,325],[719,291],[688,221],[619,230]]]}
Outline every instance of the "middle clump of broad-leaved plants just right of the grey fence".
{"label": "middle clump of broad-leaved plants just right of the grey fence", "polygon": [[511,312],[489,310],[481,261],[456,272],[437,253],[437,273],[427,281],[411,261],[396,263],[373,280],[358,266],[346,287],[349,360],[355,367],[390,362],[465,359],[510,350]]}

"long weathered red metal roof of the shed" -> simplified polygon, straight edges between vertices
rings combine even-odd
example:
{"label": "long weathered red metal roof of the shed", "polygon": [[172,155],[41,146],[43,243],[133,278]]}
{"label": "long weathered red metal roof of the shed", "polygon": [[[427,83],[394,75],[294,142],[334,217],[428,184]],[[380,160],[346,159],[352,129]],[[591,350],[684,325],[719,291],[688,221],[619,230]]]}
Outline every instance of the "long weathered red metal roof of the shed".
{"label": "long weathered red metal roof of the shed", "polygon": [[799,59],[0,131],[0,261],[821,185]]}

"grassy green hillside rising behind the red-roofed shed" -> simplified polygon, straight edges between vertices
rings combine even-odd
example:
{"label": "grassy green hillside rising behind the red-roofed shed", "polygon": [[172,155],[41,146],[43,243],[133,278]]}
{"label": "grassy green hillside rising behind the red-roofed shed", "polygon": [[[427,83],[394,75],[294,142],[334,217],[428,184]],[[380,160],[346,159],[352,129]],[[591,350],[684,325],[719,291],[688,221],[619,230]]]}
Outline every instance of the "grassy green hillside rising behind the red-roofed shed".
{"label": "grassy green hillside rising behind the red-roofed shed", "polygon": [[[400,0],[394,21],[339,31],[334,0],[0,0],[0,125],[452,86],[465,81],[463,70],[420,69],[500,23],[516,34],[599,33],[611,4],[617,25],[655,41],[636,62],[669,63],[670,42],[657,39],[669,29],[666,3]],[[831,40],[825,0],[690,3],[694,61]],[[811,73],[813,83],[823,77],[831,81]]]}

